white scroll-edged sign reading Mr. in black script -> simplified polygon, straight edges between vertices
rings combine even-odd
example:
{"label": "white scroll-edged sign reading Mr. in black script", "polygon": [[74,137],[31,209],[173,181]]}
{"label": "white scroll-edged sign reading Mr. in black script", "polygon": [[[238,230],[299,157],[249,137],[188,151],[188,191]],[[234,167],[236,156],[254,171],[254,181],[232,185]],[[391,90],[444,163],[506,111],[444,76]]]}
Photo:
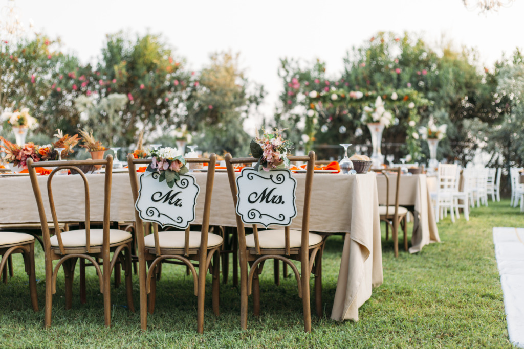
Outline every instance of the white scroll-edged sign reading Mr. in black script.
{"label": "white scroll-edged sign reading Mr. in black script", "polygon": [[189,227],[195,219],[196,198],[200,186],[193,175],[184,174],[170,188],[166,181],[159,182],[160,174],[145,172],[140,176],[140,187],[135,207],[140,218],[156,222],[161,227],[178,229]]}

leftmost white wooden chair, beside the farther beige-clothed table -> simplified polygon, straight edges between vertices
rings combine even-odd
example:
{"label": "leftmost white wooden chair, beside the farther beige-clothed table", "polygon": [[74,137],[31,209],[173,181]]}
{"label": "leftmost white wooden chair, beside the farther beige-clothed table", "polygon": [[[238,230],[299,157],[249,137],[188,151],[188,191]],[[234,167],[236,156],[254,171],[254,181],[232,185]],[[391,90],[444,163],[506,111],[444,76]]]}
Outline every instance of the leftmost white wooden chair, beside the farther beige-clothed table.
{"label": "leftmost white wooden chair, beside the farther beige-clothed table", "polygon": [[455,222],[455,182],[458,167],[456,164],[439,164],[438,187],[436,192],[431,192],[431,200],[435,209],[435,218],[439,222],[441,217],[447,216],[450,210],[451,221]]}

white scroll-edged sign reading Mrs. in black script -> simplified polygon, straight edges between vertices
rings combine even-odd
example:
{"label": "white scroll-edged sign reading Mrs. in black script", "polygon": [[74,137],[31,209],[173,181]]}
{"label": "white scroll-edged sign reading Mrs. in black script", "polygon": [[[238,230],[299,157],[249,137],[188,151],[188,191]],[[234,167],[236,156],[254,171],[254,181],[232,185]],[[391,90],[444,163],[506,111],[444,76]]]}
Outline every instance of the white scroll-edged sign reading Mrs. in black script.
{"label": "white scroll-edged sign reading Mrs. in black script", "polygon": [[289,226],[297,217],[297,180],[287,169],[255,171],[244,167],[236,178],[236,212],[246,224]]}

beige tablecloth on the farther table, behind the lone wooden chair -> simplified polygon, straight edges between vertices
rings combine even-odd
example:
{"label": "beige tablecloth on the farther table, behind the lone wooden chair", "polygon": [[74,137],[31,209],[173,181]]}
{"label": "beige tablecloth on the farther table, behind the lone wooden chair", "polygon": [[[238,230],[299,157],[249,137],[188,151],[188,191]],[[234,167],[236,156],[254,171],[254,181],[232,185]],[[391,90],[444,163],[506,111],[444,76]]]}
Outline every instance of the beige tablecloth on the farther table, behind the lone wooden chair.
{"label": "beige tablecloth on the farther table, behind the lone wooden chair", "polygon": [[[436,228],[435,214],[431,205],[428,187],[429,178],[425,174],[403,175],[400,177],[399,206],[413,207],[413,235],[410,253],[420,252],[431,242],[440,242]],[[389,205],[395,205],[395,184],[397,176],[389,176]],[[378,202],[386,205],[386,178],[377,175]]]}

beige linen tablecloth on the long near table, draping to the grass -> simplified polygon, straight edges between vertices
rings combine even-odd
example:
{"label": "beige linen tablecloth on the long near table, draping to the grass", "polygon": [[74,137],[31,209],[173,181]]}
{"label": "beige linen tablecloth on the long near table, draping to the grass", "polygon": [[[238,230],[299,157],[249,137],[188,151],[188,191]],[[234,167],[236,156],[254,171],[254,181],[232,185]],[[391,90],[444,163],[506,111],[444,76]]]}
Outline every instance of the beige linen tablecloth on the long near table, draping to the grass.
{"label": "beige linen tablecloth on the long near table, draping to the grass", "polygon": [[[201,223],[205,173],[194,173],[201,194],[196,205],[196,224]],[[297,207],[303,205],[305,174],[298,181]],[[86,175],[90,186],[91,220],[102,220],[104,176]],[[52,220],[47,196],[48,176],[39,176],[47,220]],[[0,223],[38,223],[38,209],[29,177],[0,178]],[[61,222],[84,218],[84,193],[78,175],[54,176],[53,199]],[[347,233],[335,291],[332,319],[358,321],[358,308],[371,297],[373,287],[383,283],[377,183],[374,173],[359,175],[315,174],[310,210],[310,231]],[[113,174],[111,221],[135,220],[134,202],[126,173]],[[292,229],[301,229],[302,211],[293,219]],[[235,211],[227,173],[215,173],[210,224],[236,227]]]}

